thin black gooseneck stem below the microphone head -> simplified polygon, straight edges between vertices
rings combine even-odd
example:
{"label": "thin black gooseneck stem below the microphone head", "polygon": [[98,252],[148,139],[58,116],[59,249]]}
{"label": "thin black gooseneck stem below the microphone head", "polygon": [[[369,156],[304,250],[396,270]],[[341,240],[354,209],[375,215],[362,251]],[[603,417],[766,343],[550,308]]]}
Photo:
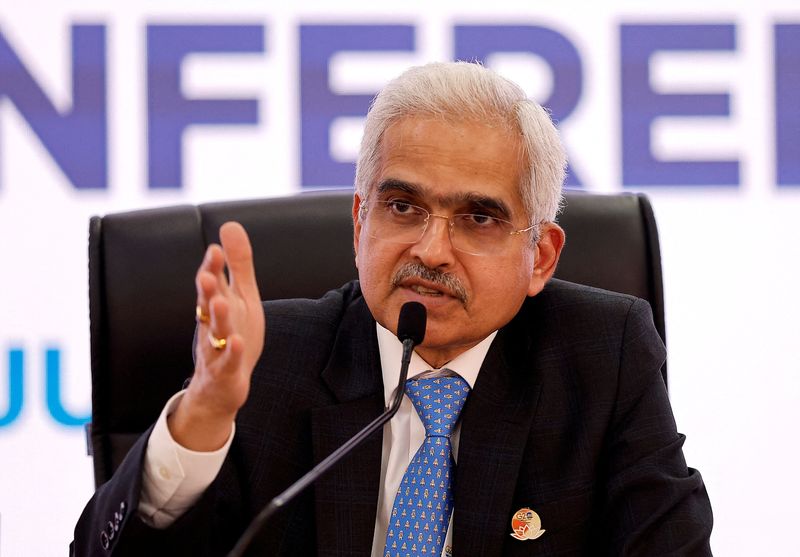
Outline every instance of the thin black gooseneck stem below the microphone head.
{"label": "thin black gooseneck stem below the microphone head", "polygon": [[242,557],[244,552],[252,543],[256,534],[261,530],[264,524],[267,523],[272,515],[274,515],[286,503],[299,495],[304,489],[317,481],[317,479],[319,479],[322,474],[327,472],[331,466],[339,462],[350,451],[363,443],[364,440],[377,431],[378,428],[382,427],[386,422],[392,419],[392,417],[400,409],[400,403],[403,402],[403,395],[405,395],[406,392],[408,365],[411,362],[411,353],[413,351],[414,339],[405,339],[403,341],[403,359],[400,364],[400,381],[397,385],[394,399],[392,399],[392,403],[389,405],[389,408],[387,408],[383,414],[370,422],[369,425],[367,425],[364,429],[351,437],[344,445],[329,454],[324,460],[314,466],[314,468],[307,472],[303,477],[294,482],[285,491],[270,501],[269,505],[264,507],[264,509],[253,519],[253,521],[250,523],[250,526],[248,526],[247,530],[245,530],[244,534],[242,534],[242,537],[240,537],[239,541],[236,542],[234,548],[230,553],[228,553],[228,557]]}

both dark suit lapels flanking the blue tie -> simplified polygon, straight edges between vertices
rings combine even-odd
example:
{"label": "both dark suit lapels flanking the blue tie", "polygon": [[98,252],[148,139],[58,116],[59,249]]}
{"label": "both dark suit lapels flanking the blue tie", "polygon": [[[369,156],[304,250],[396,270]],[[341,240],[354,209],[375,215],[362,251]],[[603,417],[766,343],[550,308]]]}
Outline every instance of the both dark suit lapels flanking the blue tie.
{"label": "both dark suit lapels flanking the blue tie", "polygon": [[[501,330],[462,411],[454,493],[456,554],[499,556],[510,534],[511,504],[541,391],[531,343],[530,331],[517,320]],[[375,322],[363,298],[345,312],[322,381],[337,403],[312,412],[315,462],[384,408]],[[315,485],[318,555],[370,554],[381,450],[382,434],[376,432]]]}

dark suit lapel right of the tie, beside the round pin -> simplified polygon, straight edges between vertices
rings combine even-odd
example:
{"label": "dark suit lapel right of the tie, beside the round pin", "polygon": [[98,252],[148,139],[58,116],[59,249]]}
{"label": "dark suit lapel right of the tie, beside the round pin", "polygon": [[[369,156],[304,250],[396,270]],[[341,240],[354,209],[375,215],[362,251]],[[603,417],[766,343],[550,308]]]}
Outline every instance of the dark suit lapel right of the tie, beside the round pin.
{"label": "dark suit lapel right of the tie, beside the round pin", "polygon": [[498,556],[511,532],[519,468],[539,402],[531,338],[512,322],[498,333],[461,414],[454,554]]}

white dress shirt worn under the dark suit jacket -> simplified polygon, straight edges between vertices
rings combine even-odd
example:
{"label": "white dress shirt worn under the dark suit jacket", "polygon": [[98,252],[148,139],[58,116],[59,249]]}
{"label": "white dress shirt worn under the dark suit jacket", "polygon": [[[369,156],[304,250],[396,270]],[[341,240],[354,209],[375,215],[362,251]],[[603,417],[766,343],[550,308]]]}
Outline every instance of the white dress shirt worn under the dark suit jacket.
{"label": "white dress shirt worn under the dark suit jacket", "polygon": [[[383,374],[384,400],[388,406],[400,380],[400,358],[403,346],[390,331],[376,325],[378,349]],[[476,346],[448,362],[447,369],[458,373],[469,384],[475,386],[483,360],[497,332],[495,331]],[[411,356],[408,377],[416,377],[430,371],[428,365],[416,352]],[[435,375],[437,371],[433,370]],[[166,528],[197,502],[203,491],[211,484],[222,468],[228,454],[235,426],[225,445],[213,452],[190,451],[178,445],[169,433],[167,416],[177,406],[183,392],[173,396],[161,412],[147,443],[142,493],[139,513],[156,528]],[[453,455],[458,458],[460,423],[451,436]],[[409,462],[425,440],[425,427],[408,396],[403,397],[400,410],[383,426],[383,449],[381,452],[381,483],[378,489],[378,510],[375,518],[375,533],[372,540],[372,557],[382,557],[386,542],[389,516],[394,497],[403,479]],[[452,516],[450,526],[452,526]],[[452,528],[447,529],[447,538],[442,550],[443,557],[451,555]]]}

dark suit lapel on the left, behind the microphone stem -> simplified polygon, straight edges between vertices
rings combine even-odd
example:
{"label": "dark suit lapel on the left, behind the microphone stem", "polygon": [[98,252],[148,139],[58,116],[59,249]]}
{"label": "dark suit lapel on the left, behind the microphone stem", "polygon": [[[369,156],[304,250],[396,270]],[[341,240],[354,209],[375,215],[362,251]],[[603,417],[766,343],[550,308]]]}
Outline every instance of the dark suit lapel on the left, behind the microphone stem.
{"label": "dark suit lapel on the left, behind the microphone stem", "polygon": [[[375,322],[363,299],[347,310],[322,372],[336,404],[311,415],[315,462],[377,417],[384,407]],[[318,555],[369,555],[380,484],[382,432],[335,465],[314,487]]]}

